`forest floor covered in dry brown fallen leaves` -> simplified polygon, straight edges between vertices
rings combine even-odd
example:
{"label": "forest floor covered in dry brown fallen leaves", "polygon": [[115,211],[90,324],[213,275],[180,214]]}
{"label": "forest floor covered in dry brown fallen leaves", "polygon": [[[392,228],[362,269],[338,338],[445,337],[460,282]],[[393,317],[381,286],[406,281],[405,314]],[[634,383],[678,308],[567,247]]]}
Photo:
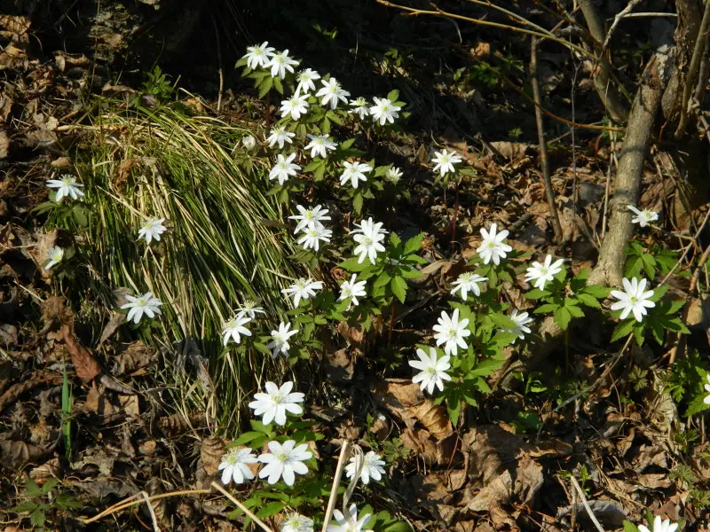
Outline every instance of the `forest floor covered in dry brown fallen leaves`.
{"label": "forest floor covered in dry brown fallen leaves", "polygon": [[[164,530],[185,532],[243,529],[242,517],[227,517],[232,505],[206,493],[154,499],[153,516],[146,505],[134,505],[91,520],[142,490],[157,495],[209,489],[219,477],[217,465],[229,438],[225,427],[209,423],[205,411],[170,403],[174,396],[168,388],[174,382],[164,379],[167,351],[161,342],[151,344],[132,332],[117,332],[120,322],[94,309],[98,298],[87,295],[77,305],[73,279],[52,278],[42,267],[50,246],[71,240],[63,231],[51,232],[50,238],[43,229],[47,218],[36,207],[47,200],[44,181],[72,171],[82,153],[91,154],[96,137],[82,126],[90,123],[91,113],[101,111],[99,98],[127,102],[137,97],[150,103],[151,86],[124,85],[110,74],[105,79],[82,53],[55,52],[48,59],[36,54],[28,20],[16,17],[2,24],[4,530],[139,530],[153,529],[153,522]],[[301,53],[294,48],[293,53]],[[564,258],[574,274],[592,267],[607,223],[610,176],[619,153],[613,131],[572,132],[566,124],[548,125],[552,184],[563,232],[563,243],[556,246],[533,106],[510,90],[505,76],[485,69],[467,70],[466,82],[438,80],[427,68],[414,71],[415,54],[407,55],[404,48],[400,56],[388,57],[376,46],[370,50],[383,69],[373,86],[387,87],[388,76],[398,74],[400,98],[412,113],[374,151],[404,169],[409,192],[381,219],[404,237],[423,232],[426,264],[422,278],[412,284],[414,295],[397,309],[396,326],[388,330],[381,323],[367,334],[338,326],[346,348],[321,356],[304,373],[304,379],[314,379],[313,387],[325,390],[314,395],[304,414],[316,427],[312,430],[323,435],[319,455],[330,458],[323,467],[335,469],[343,439],[381,450],[388,463],[387,480],[383,488],[366,491],[367,502],[417,530],[592,530],[589,513],[611,530],[622,528],[623,520],[643,522],[647,509],[675,522],[684,520],[687,530],[707,529],[706,429],[702,417],[698,422],[683,415],[687,398],[678,390],[693,364],[707,364],[702,355],[708,351],[703,301],[690,284],[702,254],[698,228],[710,211],[702,206],[687,218],[675,219],[675,202],[682,199],[676,194],[673,160],[660,148],[651,153],[638,207],[661,217],[636,241],[655,250],[651,270],[655,268],[659,278],[667,276],[669,293],[689,301],[685,323],[691,334],[683,356],[690,362],[669,365],[678,347],[670,335],[661,345],[644,343],[625,351],[622,341],[609,340],[613,324],[590,313],[573,323],[544,357],[535,356],[537,342],[546,341],[537,336],[525,356],[513,357],[507,351],[506,364],[486,377],[490,394],[480,397],[477,407],[466,408],[453,424],[441,406],[412,384],[408,371],[391,371],[389,362],[375,363],[376,357],[370,356],[396,359],[414,343],[431,339],[432,317],[441,310],[446,286],[465,270],[480,244],[479,229],[490,223],[507,228],[509,244],[521,252]],[[512,52],[503,43],[479,39],[466,53],[477,59],[476,66],[502,69]],[[584,68],[576,72],[572,88],[570,76],[558,74],[567,66],[559,52],[545,51],[540,57],[550,108],[569,112],[572,95],[574,121],[602,123]],[[332,67],[314,67],[320,66]],[[367,66],[372,64],[359,63],[359,68]],[[525,78],[516,68],[510,67],[508,77]],[[347,78],[336,68],[333,72]],[[262,120],[264,103],[254,98],[248,83],[223,90],[217,104],[214,82],[205,90],[209,96],[201,96],[195,79],[199,76],[189,80],[192,96],[182,92],[176,97],[188,114],[214,116],[243,128]],[[106,132],[106,142],[112,135]],[[430,159],[443,146],[461,155],[463,166],[472,170],[458,187],[434,183]],[[86,270],[79,275],[95,274]],[[506,286],[505,297],[518,309],[533,308],[516,284]],[[198,382],[199,364],[183,364],[192,382]],[[48,485],[54,495],[48,497],[50,489],[28,488],[28,478],[38,486]],[[47,484],[51,478],[59,479],[57,487]],[[235,493],[246,498],[248,488]],[[36,513],[32,522],[29,518],[37,508],[43,524]],[[279,525],[273,517],[266,522],[272,528]]]}

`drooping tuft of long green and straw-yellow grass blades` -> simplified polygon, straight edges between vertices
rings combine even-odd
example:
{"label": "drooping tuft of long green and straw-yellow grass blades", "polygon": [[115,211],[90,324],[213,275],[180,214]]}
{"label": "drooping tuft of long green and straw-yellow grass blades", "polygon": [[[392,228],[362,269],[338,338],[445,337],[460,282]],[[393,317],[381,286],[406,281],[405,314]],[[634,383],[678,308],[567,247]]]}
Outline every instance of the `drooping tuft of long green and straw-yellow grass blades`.
{"label": "drooping tuft of long green and straw-yellow grass blades", "polygon": [[[293,249],[272,223],[283,215],[264,193],[268,168],[255,159],[248,175],[235,160],[234,146],[251,131],[179,109],[107,105],[86,129],[90,156],[78,168],[95,208],[91,264],[111,288],[150,290],[165,303],[153,323],[158,329],[142,332],[167,355],[163,377],[172,403],[234,426],[245,393],[273,364],[261,354],[223,350],[222,325],[247,300],[258,299],[277,319],[280,288],[296,277],[287,260]],[[147,218],[166,218],[170,226],[157,245],[138,240]],[[107,286],[94,287],[111,299]],[[188,349],[172,348],[182,340],[194,340],[182,346],[200,349],[209,378]],[[191,362],[197,372],[185,372]]]}

